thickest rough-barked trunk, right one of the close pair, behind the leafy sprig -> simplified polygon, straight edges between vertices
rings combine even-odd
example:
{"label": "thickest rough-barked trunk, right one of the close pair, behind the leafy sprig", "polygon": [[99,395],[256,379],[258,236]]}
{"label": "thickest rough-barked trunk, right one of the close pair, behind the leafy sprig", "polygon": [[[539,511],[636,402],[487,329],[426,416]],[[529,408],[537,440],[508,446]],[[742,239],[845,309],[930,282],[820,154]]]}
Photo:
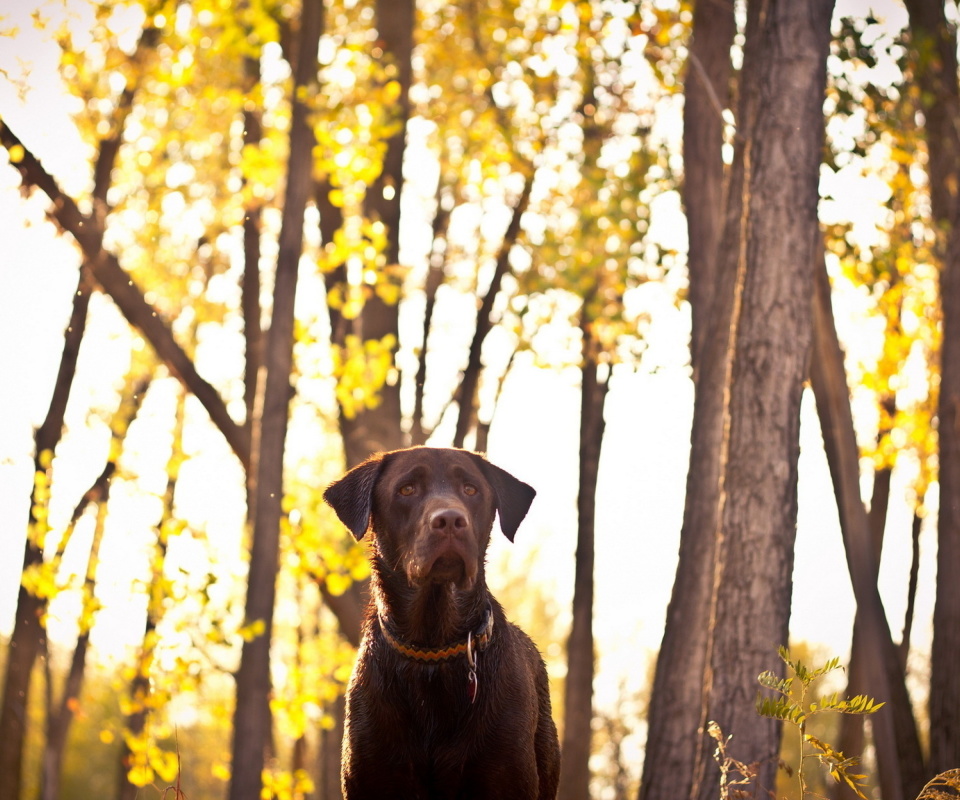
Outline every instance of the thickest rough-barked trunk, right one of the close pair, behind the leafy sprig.
{"label": "thickest rough-barked trunk, right one of the close pair, behind the leafy sprig", "polygon": [[[800,398],[812,339],[809,286],[820,247],[817,189],[832,0],[747,9],[739,135],[745,142],[737,257],[743,291],[721,455],[720,548],[707,717],[728,751],[773,787],[780,724],[757,719],[757,675],[788,641]],[[716,775],[707,748],[698,773]],[[706,779],[700,798],[713,800]]]}

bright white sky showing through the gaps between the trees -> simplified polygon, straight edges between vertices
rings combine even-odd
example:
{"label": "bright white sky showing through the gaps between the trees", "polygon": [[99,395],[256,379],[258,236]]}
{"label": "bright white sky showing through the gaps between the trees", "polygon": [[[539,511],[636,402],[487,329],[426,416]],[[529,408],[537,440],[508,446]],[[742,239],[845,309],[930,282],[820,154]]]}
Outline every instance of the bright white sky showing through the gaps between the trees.
{"label": "bright white sky showing through the gaps between the trees", "polygon": [[[886,4],[885,4],[886,5]],[[858,0],[839,6],[863,10]],[[27,4],[0,0],[0,29],[19,25],[20,34],[3,40],[0,67],[11,75],[20,73],[22,59],[30,64],[30,83],[35,88],[24,105],[8,81],[0,78],[0,114],[41,157],[45,166],[74,194],[85,188],[87,165],[78,156],[78,141],[67,115],[68,104],[56,74],[56,51],[29,21]],[[894,18],[894,21],[898,21]],[[834,177],[831,180],[839,181]],[[861,209],[864,230],[870,230],[873,213],[879,213],[876,187],[851,175],[842,191],[849,205]],[[685,231],[678,215],[676,196],[661,201],[653,225],[671,245],[683,244]],[[0,375],[7,376],[2,390],[4,413],[0,415],[0,633],[12,627],[22,558],[24,523],[32,469],[32,433],[45,413],[62,345],[62,328],[69,313],[77,275],[76,252],[59,239],[43,221],[44,198],[24,201],[19,195],[15,172],[0,156],[0,341],[15,343],[0,350]],[[826,210],[826,209],[825,209]],[[315,289],[316,287],[313,287]],[[302,291],[311,292],[308,283]],[[651,286],[645,298],[656,310],[658,324],[651,331],[650,347],[639,373],[618,373],[608,401],[607,435],[600,474],[597,520],[597,583],[595,626],[601,653],[598,699],[615,699],[621,679],[636,688],[645,680],[647,660],[659,645],[673,583],[683,491],[687,468],[692,387],[685,362],[689,319],[685,309],[673,309],[670,291]],[[851,344],[862,337],[863,308],[856,298],[844,301],[841,334]],[[858,327],[859,326],[859,327]],[[96,300],[79,366],[76,397],[68,419],[69,435],[62,458],[73,464],[58,473],[61,506],[55,513],[69,513],[69,505],[100,470],[104,456],[103,425],[86,419],[89,406],[109,406],[116,381],[126,368],[128,339],[124,325],[109,302]],[[208,344],[214,347],[214,343]],[[216,349],[209,351],[216,360]],[[222,355],[222,354],[221,354]],[[212,361],[211,361],[212,363]],[[575,548],[576,447],[579,393],[575,372],[546,372],[522,366],[508,380],[490,440],[490,457],[538,490],[528,520],[517,542],[493,545],[491,559],[525,565],[528,553],[536,551],[530,579],[554,593],[561,609],[572,593]],[[154,413],[165,413],[163,404],[172,392],[161,391],[152,402]],[[166,399],[164,399],[166,397]],[[531,403],[531,398],[535,399]],[[869,410],[859,408],[866,420]],[[820,443],[812,398],[805,398],[800,464],[800,517],[797,540],[796,590],[793,636],[823,643],[843,655],[849,646],[853,601],[841,546],[833,493]],[[139,448],[149,453],[156,445],[146,432]],[[303,443],[299,443],[301,455]],[[235,538],[242,508],[237,504],[238,472],[227,457],[225,445],[216,437],[194,442],[194,491],[184,502],[191,504],[209,526],[214,541],[225,544]],[[145,472],[149,472],[144,467]],[[904,496],[908,470],[895,475],[893,497]],[[154,476],[155,479],[155,476]],[[184,475],[184,482],[191,476]],[[200,489],[203,481],[202,489]],[[865,479],[869,491],[869,477]],[[62,489],[62,491],[61,491]],[[220,501],[204,510],[204,497]],[[228,500],[225,502],[224,498]],[[935,500],[935,498],[934,498]],[[120,496],[117,505],[131,514],[142,510],[142,499]],[[148,501],[149,502],[149,501]],[[921,573],[920,597],[914,642],[919,652],[929,648],[929,621],[934,585],[930,554],[934,552],[931,520],[923,534],[926,559]],[[894,502],[882,565],[882,592],[895,636],[902,626],[906,574],[910,561],[909,524],[904,504]],[[134,533],[114,529],[105,545],[104,560],[116,563],[137,559],[142,541]],[[509,551],[509,552],[504,552]],[[184,558],[189,553],[184,554]],[[107,574],[105,571],[104,574]],[[111,571],[112,574],[112,571]],[[104,586],[107,603],[103,624],[96,633],[104,650],[127,641],[126,634],[142,625],[143,606],[130,603],[128,574],[121,570],[115,586]],[[497,584],[527,580],[511,572],[492,578]],[[566,625],[566,619],[558,620]],[[53,625],[56,631],[56,621]],[[69,626],[61,630],[69,636]],[[105,634],[104,631],[107,633]],[[116,640],[111,637],[115,636]],[[771,652],[771,666],[776,654]]]}

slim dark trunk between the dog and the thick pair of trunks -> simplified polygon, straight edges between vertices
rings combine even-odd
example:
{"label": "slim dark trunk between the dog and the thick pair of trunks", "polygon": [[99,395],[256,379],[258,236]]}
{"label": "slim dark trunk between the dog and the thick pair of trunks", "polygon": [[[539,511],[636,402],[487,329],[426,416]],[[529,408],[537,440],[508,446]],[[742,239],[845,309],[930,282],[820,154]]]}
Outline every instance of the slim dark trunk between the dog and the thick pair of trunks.
{"label": "slim dark trunk between the dog and the thick pair of trunks", "polygon": [[590,742],[593,722],[593,566],[597,474],[603,444],[603,409],[609,374],[598,374],[599,344],[581,311],[583,337],[580,389],[580,488],[577,496],[577,554],[573,585],[573,622],[567,640],[564,684],[563,759],[558,800],[590,796]]}

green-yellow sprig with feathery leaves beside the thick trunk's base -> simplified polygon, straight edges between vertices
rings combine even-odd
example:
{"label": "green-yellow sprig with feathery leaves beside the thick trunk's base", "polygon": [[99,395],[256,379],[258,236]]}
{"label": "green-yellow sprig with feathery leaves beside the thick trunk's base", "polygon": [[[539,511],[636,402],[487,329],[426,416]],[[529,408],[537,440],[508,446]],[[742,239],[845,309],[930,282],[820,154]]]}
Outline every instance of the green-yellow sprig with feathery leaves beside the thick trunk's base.
{"label": "green-yellow sprig with feathery leaves beside the thick trunk's base", "polygon": [[807,695],[813,682],[829,672],[840,669],[840,659],[832,658],[822,667],[811,670],[799,659],[792,660],[790,651],[786,647],[780,647],[778,654],[792,675],[781,678],[769,671],[759,675],[757,680],[761,686],[776,692],[779,696],[765,697],[758,693],[757,712],[763,717],[778,719],[796,726],[800,736],[800,764],[797,767],[797,780],[800,784],[801,797],[816,796],[807,788],[804,777],[804,763],[808,759],[816,759],[827,768],[830,776],[837,783],[845,783],[859,797],[866,800],[866,795],[863,793],[866,788],[863,783],[866,775],[853,771],[859,765],[860,759],[844,756],[827,742],[808,734],[807,721],[825,711],[835,711],[840,714],[873,714],[884,704],[866,695],[841,700],[839,693],[825,695],[808,703]]}

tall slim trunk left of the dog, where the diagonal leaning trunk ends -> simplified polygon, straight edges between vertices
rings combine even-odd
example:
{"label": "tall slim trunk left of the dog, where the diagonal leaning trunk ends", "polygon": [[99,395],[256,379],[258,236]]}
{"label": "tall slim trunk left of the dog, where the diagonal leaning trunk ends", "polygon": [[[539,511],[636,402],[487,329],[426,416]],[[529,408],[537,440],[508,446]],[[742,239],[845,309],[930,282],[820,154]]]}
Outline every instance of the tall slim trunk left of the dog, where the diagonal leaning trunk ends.
{"label": "tall slim trunk left of the dog, where the diagonal leaning trunk ends", "polygon": [[293,366],[294,299],[303,248],[303,219],[311,192],[313,133],[300,93],[317,80],[317,50],[323,29],[323,1],[307,0],[300,20],[300,41],[291,97],[290,158],[280,229],[273,314],[267,335],[262,384],[263,400],[254,420],[255,476],[253,541],[247,583],[246,621],[262,626],[245,641],[237,672],[237,705],[233,724],[233,767],[230,800],[260,796],[264,753],[270,740],[270,641],[280,546],[283,500],[283,453]]}

